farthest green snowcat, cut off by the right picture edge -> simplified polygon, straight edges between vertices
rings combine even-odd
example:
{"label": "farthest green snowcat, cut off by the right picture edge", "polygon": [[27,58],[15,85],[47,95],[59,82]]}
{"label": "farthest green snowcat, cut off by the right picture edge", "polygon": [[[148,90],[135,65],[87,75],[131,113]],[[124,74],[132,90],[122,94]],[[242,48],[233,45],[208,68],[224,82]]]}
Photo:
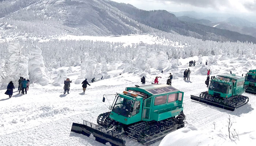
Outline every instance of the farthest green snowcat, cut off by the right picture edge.
{"label": "farthest green snowcat, cut off by the right picture edge", "polygon": [[245,92],[256,94],[256,69],[249,70],[244,81]]}

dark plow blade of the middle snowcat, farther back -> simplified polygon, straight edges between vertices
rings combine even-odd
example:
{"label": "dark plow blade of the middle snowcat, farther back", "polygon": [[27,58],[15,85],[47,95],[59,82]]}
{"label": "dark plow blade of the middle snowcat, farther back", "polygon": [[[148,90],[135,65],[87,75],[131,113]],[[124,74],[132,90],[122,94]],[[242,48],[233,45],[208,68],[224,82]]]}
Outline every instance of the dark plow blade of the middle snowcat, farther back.
{"label": "dark plow blade of the middle snowcat, farther back", "polygon": [[215,106],[215,107],[224,108],[224,109],[229,110],[229,111],[234,111],[235,108],[236,108],[236,107],[232,107],[232,106],[229,106],[229,105],[223,105],[223,104],[215,103],[213,101],[206,100],[206,99],[194,96],[194,95],[191,95],[191,99],[202,102],[202,103],[206,103],[206,104],[209,104],[209,105],[212,105],[212,106]]}

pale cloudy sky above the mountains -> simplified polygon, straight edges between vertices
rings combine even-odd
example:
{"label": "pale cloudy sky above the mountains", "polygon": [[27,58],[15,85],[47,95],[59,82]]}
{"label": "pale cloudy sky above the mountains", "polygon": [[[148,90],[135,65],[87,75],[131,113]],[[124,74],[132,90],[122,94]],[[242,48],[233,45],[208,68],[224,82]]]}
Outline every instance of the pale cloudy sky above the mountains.
{"label": "pale cloudy sky above the mountains", "polygon": [[255,14],[256,0],[112,0],[129,3],[144,10],[196,11]]}

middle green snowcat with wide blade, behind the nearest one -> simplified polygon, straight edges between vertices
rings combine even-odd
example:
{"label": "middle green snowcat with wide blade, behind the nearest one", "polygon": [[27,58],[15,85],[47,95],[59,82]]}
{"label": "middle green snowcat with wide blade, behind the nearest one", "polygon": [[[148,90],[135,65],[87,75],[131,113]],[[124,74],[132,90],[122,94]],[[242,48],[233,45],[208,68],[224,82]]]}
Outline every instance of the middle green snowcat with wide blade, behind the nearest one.
{"label": "middle green snowcat with wide blade, behind the nearest one", "polygon": [[212,79],[207,92],[199,97],[191,95],[191,99],[234,111],[248,103],[249,98],[241,95],[244,91],[244,77],[227,74]]}

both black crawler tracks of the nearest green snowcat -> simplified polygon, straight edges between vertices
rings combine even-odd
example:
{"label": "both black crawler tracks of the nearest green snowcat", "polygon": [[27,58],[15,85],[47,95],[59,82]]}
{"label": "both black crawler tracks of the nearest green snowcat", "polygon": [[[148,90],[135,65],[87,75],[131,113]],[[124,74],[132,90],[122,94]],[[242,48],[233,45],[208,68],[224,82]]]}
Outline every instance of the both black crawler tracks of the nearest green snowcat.
{"label": "both black crawler tracks of the nearest green snowcat", "polygon": [[[113,120],[109,118],[110,112],[100,114],[97,118],[97,123],[100,126],[109,128]],[[183,114],[183,112],[182,112]],[[185,115],[183,114],[184,118]],[[184,127],[184,122],[180,125]],[[151,145],[155,142],[161,141],[165,135],[178,129],[178,120],[176,118],[169,118],[162,121],[143,121],[131,124],[124,127],[125,135],[132,138],[143,145]]]}

